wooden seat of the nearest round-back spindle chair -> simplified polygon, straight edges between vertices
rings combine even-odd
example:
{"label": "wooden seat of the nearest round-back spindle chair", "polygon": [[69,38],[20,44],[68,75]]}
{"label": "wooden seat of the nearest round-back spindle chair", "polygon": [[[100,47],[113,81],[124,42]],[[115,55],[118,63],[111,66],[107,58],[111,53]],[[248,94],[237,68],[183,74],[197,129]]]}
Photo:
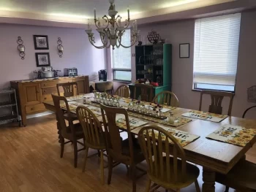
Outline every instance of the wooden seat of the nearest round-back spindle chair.
{"label": "wooden seat of the nearest round-back spindle chair", "polygon": [[[157,183],[158,185],[163,186],[164,188],[176,188],[178,186],[179,188],[185,188],[188,185],[191,185],[192,183],[197,180],[197,177],[200,174],[200,170],[198,169],[197,166],[193,164],[187,163],[187,169],[186,169],[186,174],[187,174],[187,180],[183,181],[183,175],[182,175],[182,161],[177,159],[177,166],[178,166],[178,177],[176,183],[174,183],[174,171],[173,171],[173,158],[170,157],[170,169],[167,170],[167,163],[166,163],[166,157],[163,158],[163,178],[164,180],[160,179],[161,175],[161,169],[160,169],[160,163],[157,162],[157,175],[152,175],[148,174],[150,179],[154,181],[154,183]],[[167,172],[170,173],[170,180],[167,180]]]}

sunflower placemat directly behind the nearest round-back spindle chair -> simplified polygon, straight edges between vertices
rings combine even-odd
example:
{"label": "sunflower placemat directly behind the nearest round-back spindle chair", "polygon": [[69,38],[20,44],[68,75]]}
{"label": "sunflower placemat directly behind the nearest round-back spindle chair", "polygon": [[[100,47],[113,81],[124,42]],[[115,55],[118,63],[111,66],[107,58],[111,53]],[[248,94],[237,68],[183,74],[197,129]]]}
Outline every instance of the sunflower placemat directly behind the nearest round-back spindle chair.
{"label": "sunflower placemat directly behind the nearest round-back spindle chair", "polygon": [[[186,145],[189,145],[189,143],[194,142],[196,139],[198,139],[200,136],[195,134],[189,134],[186,131],[179,131],[175,128],[169,128],[165,126],[160,126],[161,128],[165,129],[169,134],[173,135],[178,141],[178,143],[181,145],[181,147],[185,147]],[[148,132],[149,136],[151,137],[152,131]],[[155,137],[158,137],[158,131],[154,131]],[[166,137],[162,135],[162,141],[165,141]],[[170,143],[173,143],[169,139]]]}

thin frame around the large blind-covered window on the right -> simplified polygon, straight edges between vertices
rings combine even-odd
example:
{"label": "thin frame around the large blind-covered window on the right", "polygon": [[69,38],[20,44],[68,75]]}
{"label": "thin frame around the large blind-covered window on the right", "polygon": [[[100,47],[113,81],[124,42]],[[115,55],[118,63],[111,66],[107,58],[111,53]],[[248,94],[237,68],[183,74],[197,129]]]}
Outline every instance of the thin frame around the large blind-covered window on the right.
{"label": "thin frame around the large blind-covered window on the right", "polygon": [[[241,14],[241,13],[240,13]],[[233,15],[233,14],[227,14],[227,15]],[[213,16],[213,17],[218,17],[218,16]],[[210,17],[210,18],[213,18],[213,17]],[[240,16],[241,17],[241,16]],[[195,25],[196,25],[196,20],[195,20]],[[239,45],[240,45],[240,37],[241,37],[241,20],[240,20],[240,28],[239,28],[239,39],[238,39],[238,56],[239,56]],[[194,34],[194,47],[195,47],[195,34]],[[194,53],[195,55],[195,50],[194,50]],[[195,61],[195,60],[194,60]],[[234,91],[228,91],[228,90],[220,90],[220,89],[211,89],[211,88],[197,88],[197,84],[205,84],[205,85],[219,85],[219,84],[214,84],[214,83],[203,83],[203,82],[194,82],[194,63],[193,61],[193,83],[192,83],[192,91],[203,91],[203,90],[208,90],[208,91],[225,91],[225,92],[229,92],[229,93],[236,93],[236,80],[235,80],[235,84],[233,85],[234,87]],[[238,60],[237,60],[237,63],[236,63],[236,77],[237,77],[237,74],[238,74]],[[222,85],[222,86],[232,86],[232,85]]]}

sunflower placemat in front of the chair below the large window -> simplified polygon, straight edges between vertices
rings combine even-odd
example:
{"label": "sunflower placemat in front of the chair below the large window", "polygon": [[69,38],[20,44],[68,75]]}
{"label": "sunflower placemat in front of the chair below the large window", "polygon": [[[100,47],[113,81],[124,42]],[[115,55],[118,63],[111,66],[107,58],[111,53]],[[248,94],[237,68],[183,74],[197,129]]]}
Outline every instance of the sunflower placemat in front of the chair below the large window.
{"label": "sunflower placemat in front of the chair below the large window", "polygon": [[202,112],[202,111],[197,111],[197,110],[191,110],[189,112],[185,112],[182,114],[184,117],[188,118],[196,118],[196,119],[201,119],[201,120],[208,120],[212,122],[219,123],[222,120],[225,120],[227,118],[227,115],[219,115],[211,112]]}

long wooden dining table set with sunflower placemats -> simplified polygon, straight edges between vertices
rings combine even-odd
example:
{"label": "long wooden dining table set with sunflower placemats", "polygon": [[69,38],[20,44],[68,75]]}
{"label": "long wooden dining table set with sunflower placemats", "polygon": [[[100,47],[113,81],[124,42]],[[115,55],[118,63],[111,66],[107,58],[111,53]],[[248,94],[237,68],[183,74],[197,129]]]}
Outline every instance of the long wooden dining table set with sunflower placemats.
{"label": "long wooden dining table set with sunflower placemats", "polygon": [[[83,99],[78,99],[75,101],[79,102],[80,104],[84,103]],[[53,101],[45,101],[44,104],[46,109],[55,112]],[[181,117],[184,112],[189,112],[189,110],[178,107],[173,110],[174,117],[176,118]],[[232,169],[241,158],[244,158],[245,153],[256,142],[256,137],[254,137],[249,143],[246,144],[245,147],[239,147],[225,142],[206,139],[208,134],[211,134],[220,126],[224,126],[226,124],[243,126],[245,128],[256,128],[256,120],[248,120],[230,116],[219,123],[193,118],[191,122],[183,126],[175,127],[180,131],[187,131],[189,134],[200,136],[199,139],[196,139],[194,142],[191,142],[189,145],[185,146],[184,150],[187,156],[187,161],[203,166],[203,192],[214,192],[216,172],[227,174],[227,172],[229,172],[230,169]],[[142,126],[133,129],[132,133],[138,134],[141,127]],[[170,128],[174,127],[170,126]],[[170,151],[170,154],[171,152],[172,150]]]}

